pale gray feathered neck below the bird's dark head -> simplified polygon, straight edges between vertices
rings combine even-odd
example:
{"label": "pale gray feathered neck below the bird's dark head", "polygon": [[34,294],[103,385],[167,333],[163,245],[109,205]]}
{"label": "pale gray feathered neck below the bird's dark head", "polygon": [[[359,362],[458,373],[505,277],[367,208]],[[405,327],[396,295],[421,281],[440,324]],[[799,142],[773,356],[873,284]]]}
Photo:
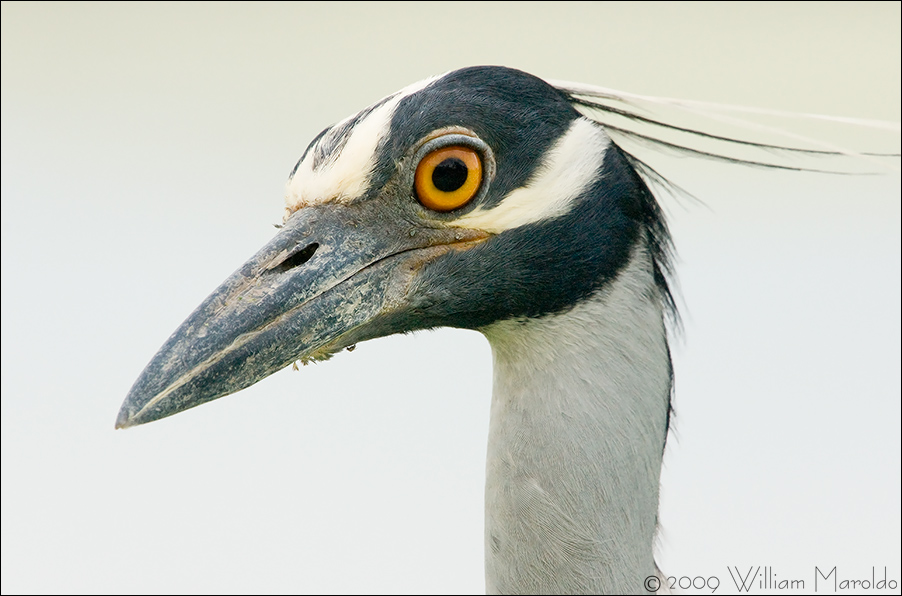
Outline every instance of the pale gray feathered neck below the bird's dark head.
{"label": "pale gray feathered neck below the bird's dark head", "polygon": [[655,572],[672,384],[647,251],[564,314],[483,332],[487,591],[640,593]]}

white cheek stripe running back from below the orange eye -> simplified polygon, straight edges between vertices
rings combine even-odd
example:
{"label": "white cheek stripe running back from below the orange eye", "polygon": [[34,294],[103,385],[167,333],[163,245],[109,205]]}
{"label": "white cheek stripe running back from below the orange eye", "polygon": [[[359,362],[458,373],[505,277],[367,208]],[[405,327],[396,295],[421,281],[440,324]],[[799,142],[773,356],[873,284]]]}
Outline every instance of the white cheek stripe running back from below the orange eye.
{"label": "white cheek stripe running back from below the orange eye", "polygon": [[611,139],[599,126],[577,118],[545,154],[527,181],[490,209],[477,208],[448,225],[498,234],[565,215],[596,181]]}

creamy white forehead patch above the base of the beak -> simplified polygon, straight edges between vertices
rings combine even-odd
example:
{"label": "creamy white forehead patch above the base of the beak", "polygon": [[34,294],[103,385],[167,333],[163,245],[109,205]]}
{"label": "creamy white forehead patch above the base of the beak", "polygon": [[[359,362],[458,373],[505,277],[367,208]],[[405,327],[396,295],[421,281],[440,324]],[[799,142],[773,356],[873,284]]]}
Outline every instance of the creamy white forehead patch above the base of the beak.
{"label": "creamy white forehead patch above the base of the beak", "polygon": [[[336,155],[315,168],[313,162],[317,147],[311,147],[286,185],[287,214],[310,205],[349,203],[363,195],[369,188],[377,151],[382,140],[388,135],[391,119],[398,104],[408,95],[422,90],[435,80],[431,78],[414,83],[390,96],[390,99],[354,125],[348,132],[347,141]],[[345,118],[332,127],[332,130],[339,130],[342,123],[353,117]],[[323,135],[317,145],[334,142],[331,133],[332,131]]]}

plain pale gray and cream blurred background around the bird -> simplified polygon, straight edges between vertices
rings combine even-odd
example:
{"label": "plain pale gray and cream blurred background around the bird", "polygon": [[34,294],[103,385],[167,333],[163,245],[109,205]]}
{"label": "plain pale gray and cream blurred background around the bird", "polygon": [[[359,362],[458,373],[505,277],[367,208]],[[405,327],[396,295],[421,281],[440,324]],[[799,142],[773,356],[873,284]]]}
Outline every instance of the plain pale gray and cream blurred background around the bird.
{"label": "plain pale gray and cream blurred background around the bird", "polygon": [[[113,431],[128,388],[272,236],[308,141],[408,83],[504,64],[898,121],[899,23],[898,3],[4,2],[3,592],[480,592],[480,335],[373,341]],[[705,204],[666,201],[686,329],[661,566],[899,579],[898,173],[659,163]]]}

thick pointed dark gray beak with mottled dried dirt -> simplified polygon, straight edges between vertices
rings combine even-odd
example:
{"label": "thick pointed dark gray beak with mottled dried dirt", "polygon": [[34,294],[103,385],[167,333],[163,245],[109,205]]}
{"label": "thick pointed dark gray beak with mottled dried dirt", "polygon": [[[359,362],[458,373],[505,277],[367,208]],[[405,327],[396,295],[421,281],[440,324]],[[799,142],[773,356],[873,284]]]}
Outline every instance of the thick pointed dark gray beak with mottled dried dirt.
{"label": "thick pointed dark gray beak with mottled dried dirt", "polygon": [[366,201],[294,213],[160,348],[116,428],[234,393],[296,360],[403,331],[378,321],[403,309],[419,267],[485,235],[416,226],[387,212]]}

